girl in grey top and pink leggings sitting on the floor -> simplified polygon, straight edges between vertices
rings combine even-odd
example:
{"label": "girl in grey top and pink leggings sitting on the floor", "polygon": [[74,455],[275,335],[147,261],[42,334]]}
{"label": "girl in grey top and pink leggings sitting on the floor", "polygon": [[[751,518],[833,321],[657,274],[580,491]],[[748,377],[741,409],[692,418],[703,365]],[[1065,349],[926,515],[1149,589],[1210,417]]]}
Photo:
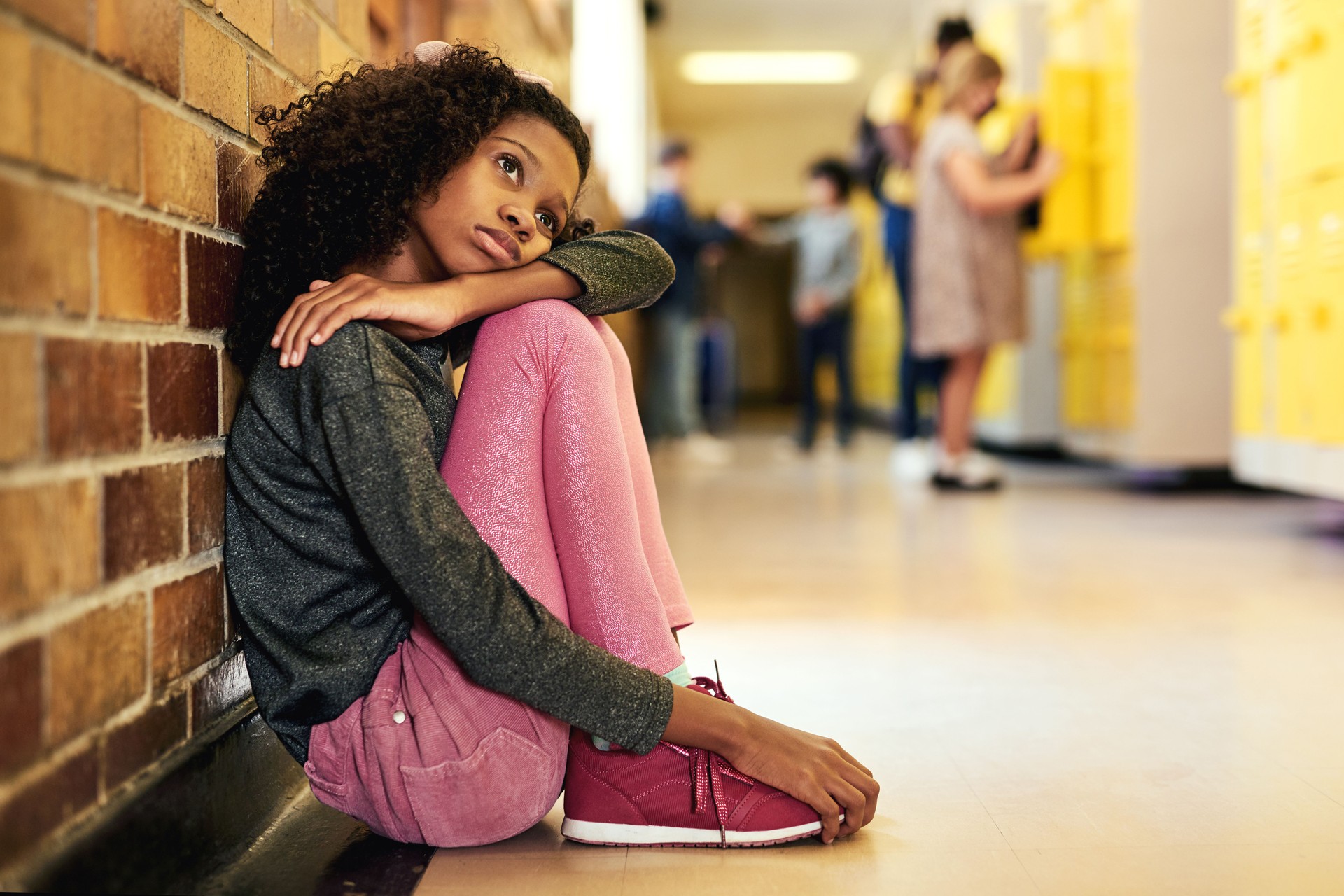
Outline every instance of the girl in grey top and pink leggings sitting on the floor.
{"label": "girl in grey top and pink leggings sitting on the floor", "polygon": [[[438,846],[516,834],[562,785],[587,842],[871,821],[878,785],[835,742],[685,672],[629,363],[585,317],[652,302],[671,265],[575,239],[573,113],[438,44],[259,121],[224,559],[258,705],[317,798]],[[442,364],[468,352],[454,399]]]}

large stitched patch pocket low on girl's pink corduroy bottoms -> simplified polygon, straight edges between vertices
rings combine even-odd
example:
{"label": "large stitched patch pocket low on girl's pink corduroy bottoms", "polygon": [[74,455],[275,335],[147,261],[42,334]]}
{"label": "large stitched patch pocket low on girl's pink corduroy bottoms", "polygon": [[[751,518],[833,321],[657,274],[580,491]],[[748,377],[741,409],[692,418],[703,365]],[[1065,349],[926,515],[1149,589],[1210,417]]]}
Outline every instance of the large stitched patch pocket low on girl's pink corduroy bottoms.
{"label": "large stitched patch pocket low on girl's pink corduroy bottoms", "polygon": [[527,830],[551,810],[564,754],[496,728],[466,759],[401,771],[426,844],[481,846]]}

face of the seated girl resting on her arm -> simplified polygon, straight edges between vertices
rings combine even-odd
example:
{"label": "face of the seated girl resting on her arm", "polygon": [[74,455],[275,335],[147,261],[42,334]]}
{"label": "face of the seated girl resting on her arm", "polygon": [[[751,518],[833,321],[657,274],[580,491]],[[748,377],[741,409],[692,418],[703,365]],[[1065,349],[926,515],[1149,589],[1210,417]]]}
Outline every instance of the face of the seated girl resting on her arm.
{"label": "face of the seated girl resting on her arm", "polygon": [[507,118],[411,215],[448,275],[517,267],[551,249],[579,191],[570,142],[532,116]]}

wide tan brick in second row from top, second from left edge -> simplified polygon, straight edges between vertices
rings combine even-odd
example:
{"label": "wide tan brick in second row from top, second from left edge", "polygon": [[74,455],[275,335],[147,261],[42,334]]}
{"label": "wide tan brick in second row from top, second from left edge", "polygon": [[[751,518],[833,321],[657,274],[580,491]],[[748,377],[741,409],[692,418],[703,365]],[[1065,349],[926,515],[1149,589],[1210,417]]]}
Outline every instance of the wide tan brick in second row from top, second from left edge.
{"label": "wide tan brick in second row from top, second from left edge", "polygon": [[38,161],[140,192],[140,102],[102,74],[38,50]]}

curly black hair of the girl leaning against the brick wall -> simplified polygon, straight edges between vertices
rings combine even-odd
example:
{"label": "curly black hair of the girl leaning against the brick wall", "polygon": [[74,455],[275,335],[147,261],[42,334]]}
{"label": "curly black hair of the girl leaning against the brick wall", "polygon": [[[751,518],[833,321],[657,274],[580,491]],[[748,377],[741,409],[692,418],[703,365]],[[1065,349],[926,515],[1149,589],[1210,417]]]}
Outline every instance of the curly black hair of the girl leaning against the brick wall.
{"label": "curly black hair of the girl leaning against the brick wall", "polygon": [[[362,66],[285,109],[266,106],[266,179],[243,223],[246,251],[238,318],[227,336],[234,361],[251,372],[280,317],[314,279],[391,255],[415,204],[437,191],[501,121],[535,116],[574,146],[579,180],[591,152],[574,113],[499,56],[454,44],[441,62]],[[593,231],[573,219],[556,240]]]}

